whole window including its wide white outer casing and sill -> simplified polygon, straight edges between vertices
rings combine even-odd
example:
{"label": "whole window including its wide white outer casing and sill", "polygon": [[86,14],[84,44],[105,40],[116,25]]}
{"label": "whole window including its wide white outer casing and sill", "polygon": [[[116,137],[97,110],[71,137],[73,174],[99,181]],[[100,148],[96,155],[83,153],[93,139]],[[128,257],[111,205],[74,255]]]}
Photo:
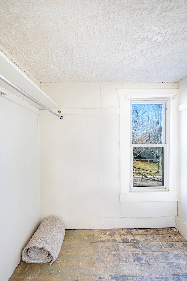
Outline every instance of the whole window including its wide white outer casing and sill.
{"label": "whole window including its wide white outer casing and sill", "polygon": [[120,202],[177,200],[177,89],[117,89]]}

